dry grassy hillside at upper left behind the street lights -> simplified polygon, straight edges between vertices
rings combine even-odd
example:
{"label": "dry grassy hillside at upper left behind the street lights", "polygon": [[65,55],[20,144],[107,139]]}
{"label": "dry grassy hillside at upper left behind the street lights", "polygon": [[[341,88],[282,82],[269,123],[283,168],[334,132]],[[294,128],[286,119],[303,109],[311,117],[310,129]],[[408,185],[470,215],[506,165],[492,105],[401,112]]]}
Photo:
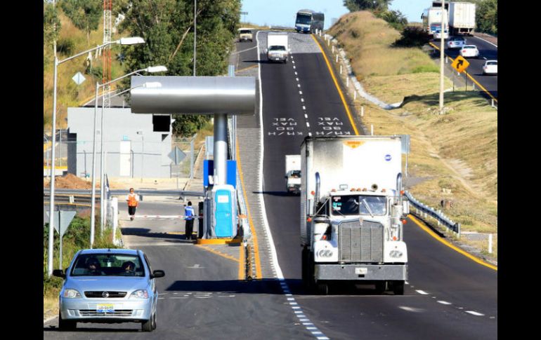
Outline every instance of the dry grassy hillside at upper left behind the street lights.
{"label": "dry grassy hillside at upper left behind the street lights", "polygon": [[[92,31],[90,34],[89,41],[86,40],[86,33],[80,29],[77,29],[69,18],[67,18],[60,9],[60,6],[57,6],[60,13],[60,36],[57,41],[57,56],[58,60],[64,60],[67,57],[71,57],[77,53],[81,53],[84,50],[89,50],[90,48],[95,48],[98,45],[103,44],[103,22],[100,24],[98,29]],[[103,21],[103,19],[102,19]],[[113,34],[112,39],[118,39],[118,36]],[[112,79],[121,76],[124,71],[122,70],[122,65],[116,60],[115,55],[118,53],[119,47],[112,46],[113,50],[111,51],[112,56],[112,67],[111,67],[111,77]],[[96,81],[102,83],[101,69],[103,67],[101,55],[97,55],[96,51],[92,52],[92,68],[93,72],[96,73],[96,76],[91,74],[85,74],[86,69],[86,55],[82,55],[73,60],[64,62],[58,66],[58,75],[57,75],[57,116],[56,123],[57,128],[66,128],[67,122],[67,108],[68,107],[78,107],[84,102],[92,100],[93,96],[96,94]],[[54,72],[54,55],[53,47],[44,45],[44,129],[51,129],[52,123],[52,112],[53,112],[53,72]],[[77,85],[72,77],[81,72],[86,81],[81,85]],[[115,86],[115,84],[112,84]]]}

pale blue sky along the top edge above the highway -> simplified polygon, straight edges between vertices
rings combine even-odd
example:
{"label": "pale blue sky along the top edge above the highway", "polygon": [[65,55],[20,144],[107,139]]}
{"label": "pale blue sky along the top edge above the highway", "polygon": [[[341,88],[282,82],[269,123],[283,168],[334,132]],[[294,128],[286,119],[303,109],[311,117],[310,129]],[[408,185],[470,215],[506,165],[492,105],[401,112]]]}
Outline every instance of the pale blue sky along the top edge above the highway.
{"label": "pale blue sky along the top edge above the highway", "polygon": [[[431,5],[429,0],[393,0],[389,8],[400,11],[410,22],[420,22],[424,8]],[[242,0],[242,22],[261,26],[294,27],[296,12],[301,9],[325,13],[325,29],[348,13],[344,0]]]}

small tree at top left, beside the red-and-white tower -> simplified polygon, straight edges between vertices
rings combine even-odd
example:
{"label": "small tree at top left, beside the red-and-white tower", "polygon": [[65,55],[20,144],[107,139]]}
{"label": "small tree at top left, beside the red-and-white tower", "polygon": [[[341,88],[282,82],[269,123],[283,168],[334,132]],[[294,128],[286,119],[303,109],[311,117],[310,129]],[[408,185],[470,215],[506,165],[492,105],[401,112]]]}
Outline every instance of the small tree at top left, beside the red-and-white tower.
{"label": "small tree at top left, beside the red-and-white tower", "polygon": [[90,43],[90,32],[98,29],[103,16],[103,1],[100,0],[64,0],[62,10],[73,25],[86,32],[86,41]]}

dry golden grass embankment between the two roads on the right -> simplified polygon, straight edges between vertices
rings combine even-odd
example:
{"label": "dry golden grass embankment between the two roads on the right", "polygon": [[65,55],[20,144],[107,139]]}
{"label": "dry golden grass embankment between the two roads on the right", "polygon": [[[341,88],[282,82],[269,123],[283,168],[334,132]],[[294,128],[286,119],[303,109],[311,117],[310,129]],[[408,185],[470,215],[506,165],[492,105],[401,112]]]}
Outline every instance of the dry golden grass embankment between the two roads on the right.
{"label": "dry golden grass embankment between the two roads on the right", "polygon": [[[409,177],[424,179],[408,190],[442,209],[462,231],[497,233],[497,111],[477,92],[445,93],[439,114],[439,69],[419,48],[395,48],[400,33],[372,13],[348,13],[331,27],[365,90],[388,103],[384,110],[358,98],[357,111],[374,135],[410,135]],[[452,83],[445,79],[445,88]],[[452,202],[442,208],[441,200]],[[487,241],[462,242],[487,249]],[[493,245],[497,259],[497,239]]]}

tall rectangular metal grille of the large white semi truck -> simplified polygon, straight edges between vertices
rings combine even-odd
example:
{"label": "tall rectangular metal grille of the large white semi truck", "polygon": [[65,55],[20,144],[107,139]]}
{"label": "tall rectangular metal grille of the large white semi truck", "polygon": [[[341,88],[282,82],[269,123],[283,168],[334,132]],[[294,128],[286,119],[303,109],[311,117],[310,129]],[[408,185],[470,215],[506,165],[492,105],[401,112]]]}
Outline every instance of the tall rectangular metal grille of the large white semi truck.
{"label": "tall rectangular metal grille of the large white semi truck", "polygon": [[382,262],[383,225],[358,220],[339,225],[339,258],[341,262]]}

